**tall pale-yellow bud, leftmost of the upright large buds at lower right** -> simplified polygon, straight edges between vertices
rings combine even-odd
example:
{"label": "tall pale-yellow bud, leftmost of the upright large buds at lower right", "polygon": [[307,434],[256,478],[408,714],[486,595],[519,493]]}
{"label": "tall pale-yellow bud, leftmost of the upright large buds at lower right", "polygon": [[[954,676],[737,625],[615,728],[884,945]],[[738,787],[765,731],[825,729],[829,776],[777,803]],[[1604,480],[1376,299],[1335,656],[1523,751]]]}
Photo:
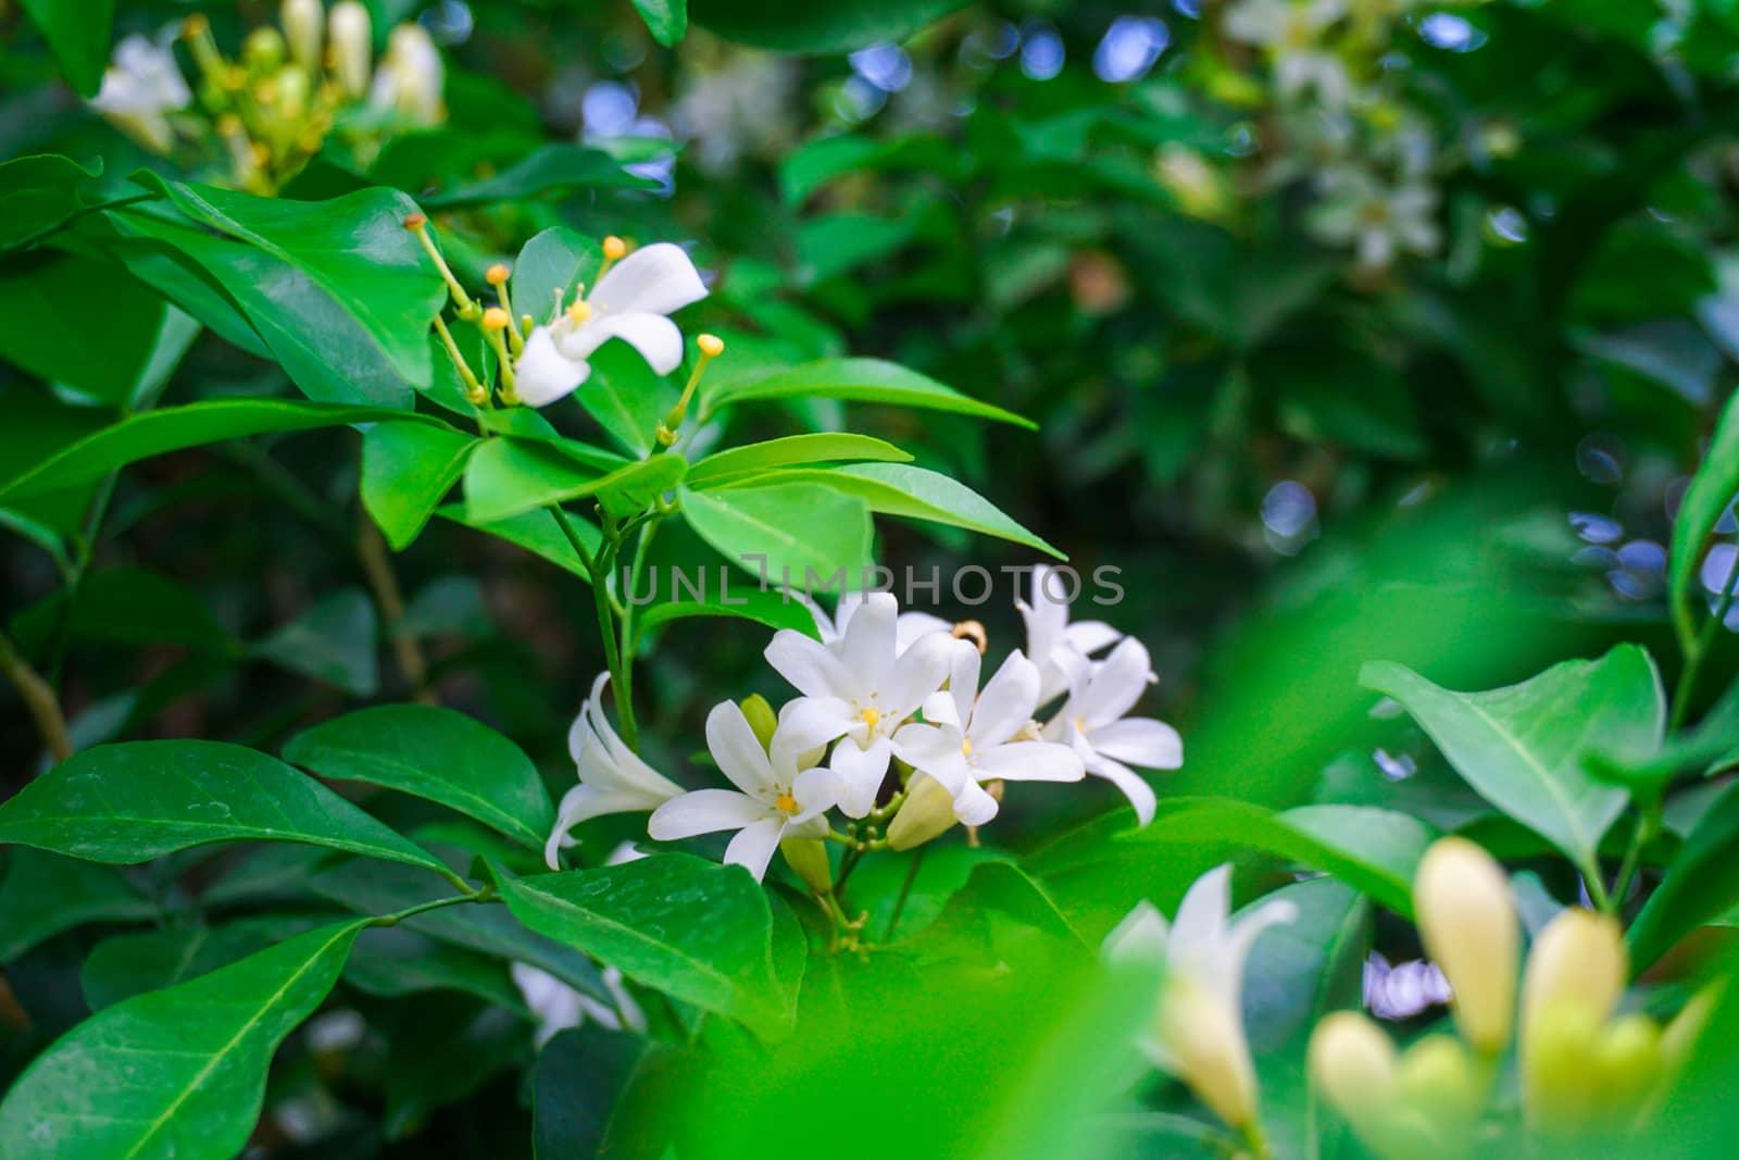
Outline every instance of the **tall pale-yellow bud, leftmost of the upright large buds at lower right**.
{"label": "tall pale-yellow bud, leftmost of the upright large buds at lower right", "polygon": [[1461,1033],[1482,1054],[1501,1052],[1515,1024],[1522,943],[1502,868],[1466,838],[1440,838],[1419,863],[1414,911]]}

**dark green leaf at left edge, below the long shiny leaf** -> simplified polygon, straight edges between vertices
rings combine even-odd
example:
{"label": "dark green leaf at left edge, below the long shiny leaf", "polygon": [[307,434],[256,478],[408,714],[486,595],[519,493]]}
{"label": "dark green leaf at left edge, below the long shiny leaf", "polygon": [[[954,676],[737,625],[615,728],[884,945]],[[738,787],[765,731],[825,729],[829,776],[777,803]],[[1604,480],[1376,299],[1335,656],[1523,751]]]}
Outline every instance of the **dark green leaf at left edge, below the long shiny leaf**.
{"label": "dark green leaf at left edge, below the long shiny leaf", "polygon": [[139,894],[120,871],[17,847],[7,856],[0,880],[0,965],[87,922],[155,917],[157,903]]}

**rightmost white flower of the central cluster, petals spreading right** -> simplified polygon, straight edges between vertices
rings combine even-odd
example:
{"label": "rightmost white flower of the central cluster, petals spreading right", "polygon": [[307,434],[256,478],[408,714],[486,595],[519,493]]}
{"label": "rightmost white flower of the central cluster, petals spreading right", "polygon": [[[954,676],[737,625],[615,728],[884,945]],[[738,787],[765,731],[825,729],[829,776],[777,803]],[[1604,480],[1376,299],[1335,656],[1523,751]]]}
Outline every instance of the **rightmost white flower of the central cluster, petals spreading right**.
{"label": "rightmost white flower of the central cluster, petals spreading right", "polygon": [[1047,741],[1073,746],[1089,774],[1123,791],[1143,826],[1153,821],[1156,798],[1153,786],[1129,765],[1177,769],[1184,763],[1184,743],[1176,729],[1146,717],[1123,717],[1153,680],[1146,647],[1125,637],[1111,656],[1080,675],[1063,711],[1045,725]]}

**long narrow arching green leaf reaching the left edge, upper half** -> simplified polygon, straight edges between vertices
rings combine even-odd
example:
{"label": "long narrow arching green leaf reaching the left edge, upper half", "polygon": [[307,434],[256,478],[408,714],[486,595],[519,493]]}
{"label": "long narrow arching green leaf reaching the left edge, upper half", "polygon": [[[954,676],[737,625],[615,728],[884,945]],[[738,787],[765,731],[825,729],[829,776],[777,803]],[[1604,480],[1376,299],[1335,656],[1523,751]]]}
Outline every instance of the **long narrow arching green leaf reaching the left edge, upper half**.
{"label": "long narrow arching green leaf reaching the left edge, upper half", "polygon": [[[228,438],[245,438],[268,431],[310,431],[379,419],[410,421],[403,412],[383,410],[381,407],[350,407],[294,398],[214,398],[184,407],[163,407],[129,416],[68,447],[54,449],[40,459],[9,464],[10,471],[0,478],[0,499],[40,496],[71,483],[101,478],[115,468],[139,459]],[[436,419],[416,421],[438,423]]]}

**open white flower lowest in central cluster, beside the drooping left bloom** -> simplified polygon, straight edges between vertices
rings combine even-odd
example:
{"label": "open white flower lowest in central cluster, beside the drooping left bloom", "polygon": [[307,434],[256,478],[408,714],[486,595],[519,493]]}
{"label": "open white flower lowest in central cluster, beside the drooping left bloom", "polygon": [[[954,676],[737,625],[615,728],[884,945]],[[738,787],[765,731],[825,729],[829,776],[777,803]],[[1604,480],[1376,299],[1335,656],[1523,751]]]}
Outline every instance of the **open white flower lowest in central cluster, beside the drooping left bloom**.
{"label": "open white flower lowest in central cluster, beside the drooping left bloom", "polygon": [[706,715],[706,748],[736,790],[696,790],[657,807],[647,833],[659,842],[736,830],[725,864],[743,866],[760,882],[783,838],[823,838],[826,814],[838,800],[840,779],[830,769],[796,770],[803,746],[774,730],[770,751],[736,701]]}

